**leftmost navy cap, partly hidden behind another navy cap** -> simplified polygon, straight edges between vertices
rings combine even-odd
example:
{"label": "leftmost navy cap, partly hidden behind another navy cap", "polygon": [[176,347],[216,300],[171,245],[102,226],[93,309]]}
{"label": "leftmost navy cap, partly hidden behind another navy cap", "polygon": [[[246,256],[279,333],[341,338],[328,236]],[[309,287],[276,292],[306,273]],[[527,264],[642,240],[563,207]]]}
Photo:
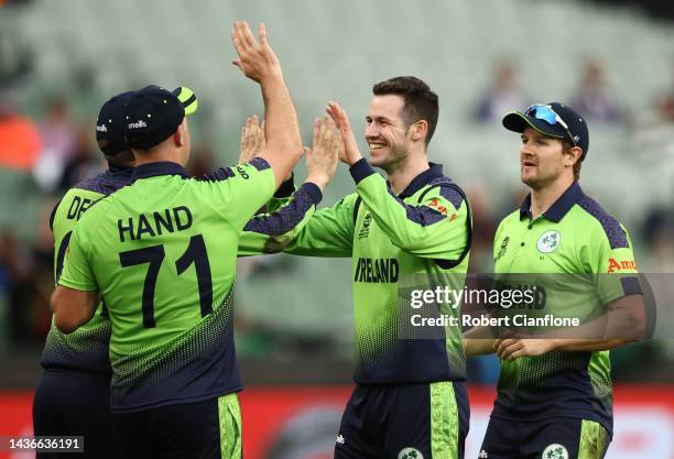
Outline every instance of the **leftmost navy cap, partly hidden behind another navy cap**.
{"label": "leftmost navy cap, partly hidden behind another navy cap", "polygon": [[115,156],[129,150],[124,138],[124,106],[133,91],[119,94],[102,105],[96,120],[96,141],[101,152]]}

